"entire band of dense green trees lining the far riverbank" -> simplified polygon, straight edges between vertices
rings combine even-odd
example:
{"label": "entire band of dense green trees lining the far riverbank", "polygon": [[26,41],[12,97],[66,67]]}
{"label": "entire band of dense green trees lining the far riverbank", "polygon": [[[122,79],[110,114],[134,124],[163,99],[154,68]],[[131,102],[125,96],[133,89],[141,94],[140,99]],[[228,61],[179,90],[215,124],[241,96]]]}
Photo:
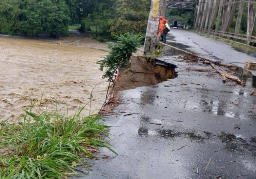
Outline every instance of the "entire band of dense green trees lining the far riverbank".
{"label": "entire band of dense green trees lining the far riverbank", "polygon": [[65,36],[70,24],[115,38],[146,32],[150,0],[1,0],[0,33]]}

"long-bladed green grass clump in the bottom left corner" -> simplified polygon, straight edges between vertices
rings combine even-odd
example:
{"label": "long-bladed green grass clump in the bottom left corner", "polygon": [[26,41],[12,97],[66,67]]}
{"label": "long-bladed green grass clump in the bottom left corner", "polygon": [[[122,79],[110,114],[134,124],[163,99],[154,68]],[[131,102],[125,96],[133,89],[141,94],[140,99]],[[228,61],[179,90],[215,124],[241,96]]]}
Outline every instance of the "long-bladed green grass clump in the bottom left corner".
{"label": "long-bladed green grass clump in the bottom left corner", "polygon": [[64,179],[83,165],[82,159],[94,157],[92,149],[103,146],[114,152],[101,139],[109,135],[108,126],[98,115],[83,117],[82,109],[73,116],[60,110],[40,115],[25,111],[22,123],[0,122],[1,178]]}

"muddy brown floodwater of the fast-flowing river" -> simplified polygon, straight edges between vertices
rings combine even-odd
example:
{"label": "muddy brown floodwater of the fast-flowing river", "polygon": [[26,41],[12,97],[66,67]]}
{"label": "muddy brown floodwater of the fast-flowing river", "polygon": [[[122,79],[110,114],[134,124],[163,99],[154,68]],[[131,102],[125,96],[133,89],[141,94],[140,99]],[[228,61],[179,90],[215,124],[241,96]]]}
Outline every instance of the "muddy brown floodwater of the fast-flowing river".
{"label": "muddy brown floodwater of the fast-flowing river", "polygon": [[[74,114],[90,101],[92,88],[102,80],[96,62],[107,52],[104,44],[90,38],[32,40],[0,37],[0,120],[20,121],[24,112],[54,110]],[[97,113],[106,95],[107,82],[93,91],[91,113]],[[42,107],[39,103],[42,96]],[[90,107],[83,111],[89,114]]]}

